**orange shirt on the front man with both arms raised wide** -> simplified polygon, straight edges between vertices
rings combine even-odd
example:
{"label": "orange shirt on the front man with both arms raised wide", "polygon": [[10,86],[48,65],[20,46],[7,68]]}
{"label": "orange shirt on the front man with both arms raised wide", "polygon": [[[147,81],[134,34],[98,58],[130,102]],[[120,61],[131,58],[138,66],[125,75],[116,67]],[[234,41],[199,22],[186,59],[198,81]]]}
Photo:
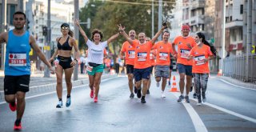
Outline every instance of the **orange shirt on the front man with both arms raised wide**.
{"label": "orange shirt on the front man with both arms raised wide", "polygon": [[135,48],[134,68],[145,69],[150,67],[150,50],[152,47],[152,42],[139,44],[138,41],[134,40],[133,46]]}

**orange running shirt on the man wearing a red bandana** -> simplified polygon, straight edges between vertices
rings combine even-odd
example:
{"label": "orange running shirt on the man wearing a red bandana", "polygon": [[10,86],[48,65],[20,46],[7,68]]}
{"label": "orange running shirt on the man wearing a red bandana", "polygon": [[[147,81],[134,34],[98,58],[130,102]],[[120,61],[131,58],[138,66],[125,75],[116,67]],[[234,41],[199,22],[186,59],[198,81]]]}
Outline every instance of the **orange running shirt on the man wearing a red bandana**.
{"label": "orange running shirt on the man wearing a red bandana", "polygon": [[187,37],[184,38],[182,36],[178,36],[174,39],[174,44],[178,45],[178,57],[177,57],[177,63],[183,64],[183,65],[190,65],[192,66],[192,60],[188,61],[186,58],[190,54],[190,47],[186,46],[187,44],[190,44],[190,46],[194,47],[196,46],[196,42],[194,41],[194,38]]}

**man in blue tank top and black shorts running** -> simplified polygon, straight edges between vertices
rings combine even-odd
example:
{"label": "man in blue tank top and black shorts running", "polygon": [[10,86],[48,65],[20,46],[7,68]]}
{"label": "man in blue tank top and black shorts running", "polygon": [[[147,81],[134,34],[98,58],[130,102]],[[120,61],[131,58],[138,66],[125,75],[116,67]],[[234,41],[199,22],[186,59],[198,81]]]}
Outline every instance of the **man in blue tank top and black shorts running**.
{"label": "man in blue tank top and black shorts running", "polygon": [[13,18],[14,30],[0,34],[0,44],[6,42],[5,99],[9,103],[10,110],[17,110],[14,130],[22,130],[21,122],[26,106],[25,96],[26,92],[30,90],[30,48],[49,67],[51,74],[54,74],[55,71],[50,66],[50,63],[47,62],[44,54],[42,54],[35,38],[28,31],[24,30],[26,14],[17,11],[14,13]]}

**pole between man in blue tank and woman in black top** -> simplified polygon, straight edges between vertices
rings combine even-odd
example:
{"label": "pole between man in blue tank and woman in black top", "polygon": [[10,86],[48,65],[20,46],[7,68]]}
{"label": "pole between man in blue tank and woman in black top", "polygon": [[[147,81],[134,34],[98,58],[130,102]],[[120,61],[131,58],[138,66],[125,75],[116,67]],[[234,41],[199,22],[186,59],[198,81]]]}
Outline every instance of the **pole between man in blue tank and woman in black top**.
{"label": "pole between man in blue tank and woman in black top", "polygon": [[[46,58],[50,59],[50,0],[48,0],[48,8],[47,8],[47,36],[46,36]],[[45,78],[50,78],[50,70],[45,65],[46,69],[44,72]]]}

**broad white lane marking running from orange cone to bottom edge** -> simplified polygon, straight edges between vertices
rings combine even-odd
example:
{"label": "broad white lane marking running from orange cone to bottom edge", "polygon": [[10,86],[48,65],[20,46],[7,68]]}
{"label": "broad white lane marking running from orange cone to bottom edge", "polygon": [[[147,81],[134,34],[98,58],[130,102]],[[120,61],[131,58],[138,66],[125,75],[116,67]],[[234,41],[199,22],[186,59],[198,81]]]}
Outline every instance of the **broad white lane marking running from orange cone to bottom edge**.
{"label": "broad white lane marking running from orange cone to bottom edge", "polygon": [[[176,98],[178,98],[178,93],[171,93],[174,94]],[[194,124],[194,129],[197,132],[208,132],[206,129],[205,124],[202,122],[202,119],[199,117],[198,113],[194,110],[194,108],[190,105],[190,103],[182,102],[183,106],[185,106],[186,111],[190,114],[190,118]]]}

